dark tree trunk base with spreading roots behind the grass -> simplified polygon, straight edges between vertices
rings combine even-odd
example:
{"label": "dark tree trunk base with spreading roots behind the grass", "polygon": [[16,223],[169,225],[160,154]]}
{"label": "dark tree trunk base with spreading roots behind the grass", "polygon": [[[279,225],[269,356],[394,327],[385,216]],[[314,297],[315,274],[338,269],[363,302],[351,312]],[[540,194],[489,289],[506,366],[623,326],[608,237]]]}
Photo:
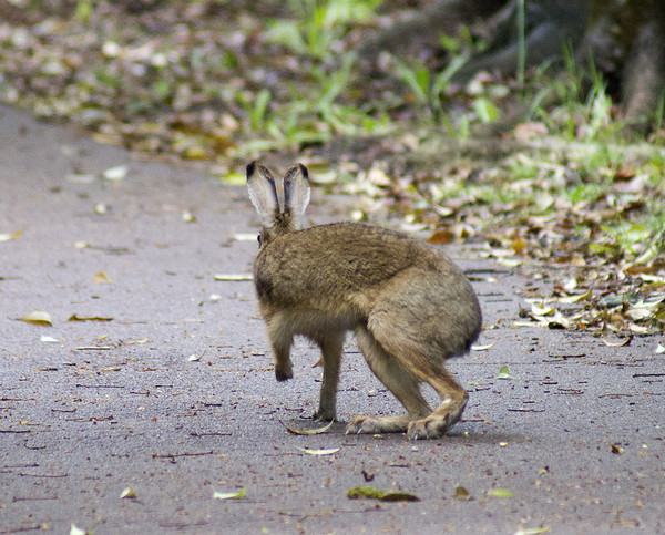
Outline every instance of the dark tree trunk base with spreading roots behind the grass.
{"label": "dark tree trunk base with spreading roots behind the grass", "polygon": [[[501,9],[503,7],[503,9]],[[464,83],[480,71],[514,75],[518,66],[516,0],[442,0],[369,40],[364,55],[380,50],[413,53],[437,47],[440,33],[456,33],[479,17],[498,21],[487,51],[454,76]],[[561,59],[572,47],[577,64],[593,63],[621,103],[626,123],[645,132],[665,92],[665,0],[524,0],[526,64]],[[499,13],[499,14],[497,14]]]}

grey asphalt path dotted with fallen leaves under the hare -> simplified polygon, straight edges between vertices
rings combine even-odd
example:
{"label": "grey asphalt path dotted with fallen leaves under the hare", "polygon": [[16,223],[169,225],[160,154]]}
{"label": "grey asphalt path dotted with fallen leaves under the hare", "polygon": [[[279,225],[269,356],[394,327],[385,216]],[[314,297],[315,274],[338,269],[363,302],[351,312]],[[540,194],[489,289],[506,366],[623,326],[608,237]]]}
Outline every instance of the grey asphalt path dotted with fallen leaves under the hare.
{"label": "grey asphalt path dotted with fallen leaves under the hare", "polygon": [[[314,220],[344,218],[314,197]],[[299,341],[275,381],[253,285],[228,280],[256,232],[244,187],[0,109],[0,534],[665,533],[658,337],[515,328],[525,280],[449,248],[485,323],[449,367],[462,421],[293,434],[320,426],[319,356]],[[349,339],[340,420],[400,410]]]}

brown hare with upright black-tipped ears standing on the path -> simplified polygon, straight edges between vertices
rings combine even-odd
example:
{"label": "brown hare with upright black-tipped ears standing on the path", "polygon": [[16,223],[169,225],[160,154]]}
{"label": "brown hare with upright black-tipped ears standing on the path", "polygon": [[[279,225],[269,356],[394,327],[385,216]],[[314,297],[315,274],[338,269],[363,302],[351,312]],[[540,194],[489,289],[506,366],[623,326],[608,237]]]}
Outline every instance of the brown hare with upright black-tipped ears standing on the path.
{"label": "brown hare with upright black-tipped ears standing on the path", "polygon": [[[468,394],[443,361],[468,352],[482,327],[462,270],[429,245],[385,228],[359,223],[303,228],[309,179],[301,164],[284,175],[282,208],[273,174],[260,163],[247,166],[247,187],[262,226],[254,281],[277,381],[293,378],[294,336],[315,341],[324,380],[314,418],[334,420],[342,343],[352,330],[369,368],[408,414],[358,416],[346,432],[407,432],[413,440],[446,433]],[[441,397],[434,411],[420,393],[421,382]]]}

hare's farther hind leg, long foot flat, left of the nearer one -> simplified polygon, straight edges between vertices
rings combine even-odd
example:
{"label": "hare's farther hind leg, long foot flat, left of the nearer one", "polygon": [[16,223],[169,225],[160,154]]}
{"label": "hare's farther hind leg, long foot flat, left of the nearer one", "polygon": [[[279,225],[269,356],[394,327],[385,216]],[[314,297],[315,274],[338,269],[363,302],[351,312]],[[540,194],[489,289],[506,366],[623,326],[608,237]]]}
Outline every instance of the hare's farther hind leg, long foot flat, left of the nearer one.
{"label": "hare's farther hind leg, long foot flat, left of the nearer one", "polygon": [[358,416],[347,425],[347,433],[406,432],[410,422],[430,414],[431,409],[419,389],[419,380],[388,353],[365,328],[356,329],[358,346],[377,378],[407,409],[402,416]]}

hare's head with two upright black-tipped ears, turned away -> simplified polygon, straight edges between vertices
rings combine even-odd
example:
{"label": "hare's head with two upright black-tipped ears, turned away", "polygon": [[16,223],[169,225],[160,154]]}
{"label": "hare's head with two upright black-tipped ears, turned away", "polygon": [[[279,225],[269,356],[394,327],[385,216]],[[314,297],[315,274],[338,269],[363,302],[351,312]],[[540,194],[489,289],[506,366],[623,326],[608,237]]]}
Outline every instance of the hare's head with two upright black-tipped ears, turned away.
{"label": "hare's head with two upright black-tipped ears, turned away", "polygon": [[305,209],[309,204],[309,178],[303,164],[289,167],[284,174],[284,207],[279,207],[273,173],[265,165],[247,165],[249,200],[260,219],[259,246],[264,247],[277,236],[303,228]]}

